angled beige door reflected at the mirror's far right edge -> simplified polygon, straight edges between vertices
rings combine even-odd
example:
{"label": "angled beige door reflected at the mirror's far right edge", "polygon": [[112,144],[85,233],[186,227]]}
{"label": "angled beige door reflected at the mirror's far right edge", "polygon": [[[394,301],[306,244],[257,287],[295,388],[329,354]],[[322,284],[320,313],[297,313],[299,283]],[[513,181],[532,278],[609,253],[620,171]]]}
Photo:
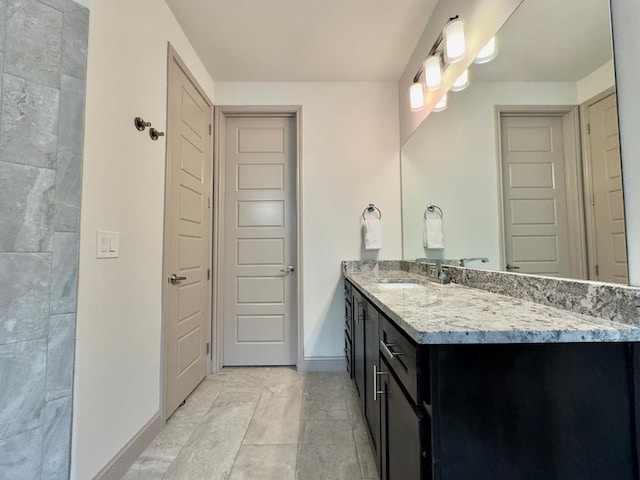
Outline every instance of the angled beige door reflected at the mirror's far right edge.
{"label": "angled beige door reflected at the mirror's far right edge", "polygon": [[595,280],[626,284],[627,247],[615,94],[590,105],[588,115]]}

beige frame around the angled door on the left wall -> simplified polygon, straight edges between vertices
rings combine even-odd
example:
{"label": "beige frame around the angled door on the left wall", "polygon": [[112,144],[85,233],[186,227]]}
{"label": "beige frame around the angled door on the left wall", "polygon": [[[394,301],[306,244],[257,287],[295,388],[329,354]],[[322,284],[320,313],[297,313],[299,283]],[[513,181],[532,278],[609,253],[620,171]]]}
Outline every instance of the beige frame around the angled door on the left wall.
{"label": "beige frame around the angled door on the left wall", "polygon": [[[198,93],[200,95],[202,95],[202,98],[207,102],[207,105],[209,105],[209,107],[211,108],[211,113],[213,115],[213,111],[214,111],[214,107],[213,107],[213,102],[211,101],[211,99],[209,98],[209,96],[205,93],[205,91],[202,89],[202,87],[200,86],[200,84],[198,83],[198,81],[195,79],[195,77],[193,76],[193,74],[191,73],[191,71],[189,70],[189,68],[187,67],[187,65],[184,63],[184,61],[182,60],[182,58],[180,57],[180,55],[178,54],[178,52],[176,51],[176,49],[173,47],[173,45],[171,44],[171,42],[167,42],[167,110],[166,110],[166,127],[167,127],[167,135],[165,136],[166,138],[166,145],[165,145],[165,181],[164,181],[164,216],[163,216],[163,237],[162,237],[162,327],[161,327],[161,334],[160,334],[160,339],[161,339],[161,343],[160,343],[160,356],[161,356],[161,369],[162,369],[162,375],[160,378],[160,411],[162,412],[162,418],[163,418],[163,425],[166,423],[166,378],[167,378],[167,345],[166,342],[168,340],[168,335],[167,335],[167,323],[168,323],[168,318],[166,315],[166,312],[168,311],[168,296],[166,295],[166,289],[167,289],[167,282],[166,282],[166,278],[169,275],[169,261],[168,261],[168,255],[167,255],[167,238],[169,235],[169,221],[168,221],[168,215],[169,215],[169,209],[167,208],[167,199],[169,198],[169,186],[171,185],[171,169],[169,168],[169,160],[170,160],[170,155],[171,155],[171,141],[172,141],[172,134],[169,131],[169,68],[171,67],[171,62],[175,62],[178,67],[180,68],[180,70],[182,70],[182,72],[186,75],[187,79],[189,79],[189,81],[193,84],[193,86],[195,87],[195,89],[198,91]],[[209,123],[212,125],[213,124],[213,117],[209,118]],[[210,143],[210,147],[211,147],[211,152],[214,152],[214,144],[213,144],[213,140],[214,137],[213,135],[209,135],[209,143]],[[213,158],[210,158],[209,161],[211,162],[210,164],[210,184],[207,188],[207,191],[209,192],[209,195],[212,196],[212,189],[213,189],[213,185],[214,185],[214,163],[213,163]],[[213,212],[213,208],[209,209],[209,214],[207,215],[207,221],[209,223],[209,227],[211,227],[211,225],[213,225],[213,216],[212,216],[212,212]],[[206,228],[206,227],[205,227]],[[211,228],[209,228],[209,232],[211,232]],[[209,234],[209,269],[211,269],[211,263],[212,263],[212,255],[211,255],[211,251],[213,248],[212,243],[215,242],[215,239],[212,237],[211,234]],[[208,319],[205,319],[205,338],[209,338],[209,342],[211,341],[211,310],[212,310],[212,301],[213,301],[213,297],[211,295],[211,292],[209,290],[209,295],[208,295],[208,302],[207,302],[207,307],[205,309],[205,313],[208,314]],[[209,355],[211,355],[211,349],[209,350]],[[205,368],[205,375],[208,375],[210,373],[210,362],[207,361],[205,362],[206,368]]]}

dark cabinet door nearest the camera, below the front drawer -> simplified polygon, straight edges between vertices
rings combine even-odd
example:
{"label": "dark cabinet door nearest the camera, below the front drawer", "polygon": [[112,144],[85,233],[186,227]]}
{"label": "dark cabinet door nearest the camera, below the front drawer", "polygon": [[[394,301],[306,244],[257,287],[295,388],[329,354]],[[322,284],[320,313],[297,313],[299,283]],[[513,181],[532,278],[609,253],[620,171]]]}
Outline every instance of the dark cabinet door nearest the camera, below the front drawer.
{"label": "dark cabinet door nearest the camera, below the front drawer", "polygon": [[[422,452],[419,418],[400,385],[381,357],[381,478],[382,480],[419,480]],[[426,475],[426,473],[425,473]],[[424,478],[430,478],[426,476]]]}

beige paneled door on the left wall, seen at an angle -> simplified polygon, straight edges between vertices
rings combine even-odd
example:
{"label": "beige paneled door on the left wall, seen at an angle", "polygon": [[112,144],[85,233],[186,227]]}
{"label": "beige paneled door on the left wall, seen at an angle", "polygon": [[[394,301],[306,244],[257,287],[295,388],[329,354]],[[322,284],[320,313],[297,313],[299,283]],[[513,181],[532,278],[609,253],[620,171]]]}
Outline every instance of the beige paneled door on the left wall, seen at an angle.
{"label": "beige paneled door on the left wall, seen at an angle", "polygon": [[207,373],[211,104],[170,51],[165,205],[165,403],[168,418]]}

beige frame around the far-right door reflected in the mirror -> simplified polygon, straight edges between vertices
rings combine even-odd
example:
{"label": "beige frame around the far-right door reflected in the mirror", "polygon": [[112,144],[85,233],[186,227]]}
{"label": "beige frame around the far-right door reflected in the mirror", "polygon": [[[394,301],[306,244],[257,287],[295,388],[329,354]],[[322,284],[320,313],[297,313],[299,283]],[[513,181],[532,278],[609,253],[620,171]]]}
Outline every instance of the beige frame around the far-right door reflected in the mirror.
{"label": "beige frame around the far-right door reflected in the mirror", "polygon": [[[595,95],[585,102],[580,104],[580,128],[582,132],[587,132],[589,124],[589,107],[598,103],[601,100],[604,100],[608,96],[615,94],[615,87],[610,87],[600,92],[598,95]],[[616,103],[618,99],[616,98]],[[619,123],[619,117],[618,117]],[[620,128],[618,128],[618,138],[620,138]],[[585,208],[584,216],[586,219],[586,232],[587,232],[587,260],[589,262],[589,278],[595,279],[596,275],[596,265],[598,264],[597,253],[598,250],[595,248],[596,245],[596,216],[595,210],[593,208],[592,196],[593,196],[593,166],[591,164],[591,147],[589,142],[588,134],[581,136],[582,142],[582,164],[583,164],[583,175],[584,175],[584,204],[588,205],[588,208]],[[620,147],[618,147],[620,148]],[[624,209],[624,186],[622,189],[622,198],[623,198],[623,209]],[[626,213],[626,212],[625,212]],[[625,240],[626,240],[626,223],[625,223]],[[628,255],[629,247],[627,246],[627,260],[629,259]],[[627,273],[629,271],[629,265],[627,263]]]}

